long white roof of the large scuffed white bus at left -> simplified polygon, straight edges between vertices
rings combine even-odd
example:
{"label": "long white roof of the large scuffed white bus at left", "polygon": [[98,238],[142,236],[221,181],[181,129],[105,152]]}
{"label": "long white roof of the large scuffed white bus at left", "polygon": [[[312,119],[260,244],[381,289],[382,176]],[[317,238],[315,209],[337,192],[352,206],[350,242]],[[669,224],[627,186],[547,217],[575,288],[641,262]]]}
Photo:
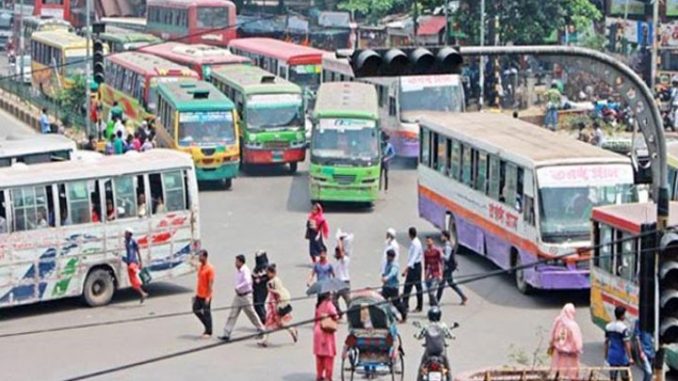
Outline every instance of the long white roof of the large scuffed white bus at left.
{"label": "long white roof of the large scuffed white bus at left", "polygon": [[129,152],[124,155],[88,157],[60,163],[14,165],[0,169],[0,188],[24,185],[52,184],[62,181],[115,177],[128,173],[143,173],[171,168],[191,168],[190,155],[168,149]]}

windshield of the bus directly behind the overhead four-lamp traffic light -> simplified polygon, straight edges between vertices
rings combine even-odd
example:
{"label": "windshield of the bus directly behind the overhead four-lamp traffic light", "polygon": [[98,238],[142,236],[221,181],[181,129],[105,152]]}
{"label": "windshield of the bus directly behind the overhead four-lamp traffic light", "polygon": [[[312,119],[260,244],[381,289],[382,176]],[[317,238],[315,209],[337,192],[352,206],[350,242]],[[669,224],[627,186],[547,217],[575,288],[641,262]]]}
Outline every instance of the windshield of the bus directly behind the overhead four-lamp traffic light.
{"label": "windshield of the bus directly behind the overhead four-lamp traffic light", "polygon": [[463,88],[454,76],[401,78],[400,111],[403,122],[416,122],[416,111],[461,112]]}

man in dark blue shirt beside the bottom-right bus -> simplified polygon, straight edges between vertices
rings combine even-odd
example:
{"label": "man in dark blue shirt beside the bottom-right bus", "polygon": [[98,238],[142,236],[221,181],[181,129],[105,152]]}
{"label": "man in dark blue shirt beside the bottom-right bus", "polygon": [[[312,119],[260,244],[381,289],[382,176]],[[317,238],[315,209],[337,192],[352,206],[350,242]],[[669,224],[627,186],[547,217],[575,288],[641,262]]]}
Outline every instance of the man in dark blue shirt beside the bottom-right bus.
{"label": "man in dark blue shirt beside the bottom-right bus", "polygon": [[[626,308],[617,306],[614,309],[615,321],[605,326],[605,359],[611,367],[628,367],[633,365],[631,356],[631,333],[624,323]],[[617,370],[610,371],[610,380],[616,381],[621,376],[623,381],[629,379],[629,373]]]}

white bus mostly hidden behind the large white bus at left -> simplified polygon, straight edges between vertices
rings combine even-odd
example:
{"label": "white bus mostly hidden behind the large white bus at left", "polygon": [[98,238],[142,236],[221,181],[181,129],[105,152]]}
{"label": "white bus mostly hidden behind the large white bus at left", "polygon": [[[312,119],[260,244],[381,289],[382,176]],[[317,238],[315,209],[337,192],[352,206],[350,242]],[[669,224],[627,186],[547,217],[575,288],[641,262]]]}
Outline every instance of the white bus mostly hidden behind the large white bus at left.
{"label": "white bus mostly hidden behind the large white bus at left", "polygon": [[75,152],[75,142],[62,135],[8,136],[0,139],[0,168],[72,160]]}

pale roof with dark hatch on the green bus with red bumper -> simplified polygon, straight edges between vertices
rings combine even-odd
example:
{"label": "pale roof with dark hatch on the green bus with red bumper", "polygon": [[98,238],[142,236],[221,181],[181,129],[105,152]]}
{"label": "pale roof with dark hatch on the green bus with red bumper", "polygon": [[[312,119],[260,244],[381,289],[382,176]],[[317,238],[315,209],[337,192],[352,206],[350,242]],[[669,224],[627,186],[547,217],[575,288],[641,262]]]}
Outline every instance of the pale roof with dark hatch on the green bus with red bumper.
{"label": "pale roof with dark hatch on the green bus with red bumper", "polygon": [[[301,94],[301,87],[253,65],[222,65],[212,69],[212,78],[227,82],[245,94]],[[272,82],[265,82],[271,79]]]}

